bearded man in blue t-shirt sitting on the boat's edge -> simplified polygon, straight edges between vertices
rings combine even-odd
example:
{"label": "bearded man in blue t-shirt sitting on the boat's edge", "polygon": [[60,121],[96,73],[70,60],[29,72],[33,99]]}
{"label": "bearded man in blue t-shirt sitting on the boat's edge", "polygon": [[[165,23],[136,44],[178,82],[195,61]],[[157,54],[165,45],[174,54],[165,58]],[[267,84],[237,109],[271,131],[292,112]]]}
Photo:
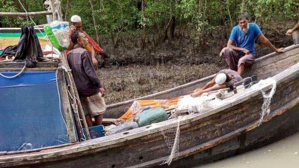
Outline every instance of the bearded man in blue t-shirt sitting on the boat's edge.
{"label": "bearded man in blue t-shirt sitting on the boat's edge", "polygon": [[248,21],[247,13],[242,13],[238,16],[239,25],[233,28],[227,47],[223,48],[220,52],[220,56],[225,57],[230,69],[237,71],[239,75],[242,75],[245,67],[252,65],[256,59],[256,37],[275,52],[284,52],[284,48],[277,49],[262,34],[256,23],[249,23]]}

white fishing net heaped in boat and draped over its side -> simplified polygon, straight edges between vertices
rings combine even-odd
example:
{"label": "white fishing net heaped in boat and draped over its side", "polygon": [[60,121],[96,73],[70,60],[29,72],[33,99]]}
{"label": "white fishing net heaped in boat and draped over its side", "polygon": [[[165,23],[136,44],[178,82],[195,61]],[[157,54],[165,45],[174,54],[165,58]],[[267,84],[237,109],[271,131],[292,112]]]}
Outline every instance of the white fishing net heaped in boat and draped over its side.
{"label": "white fishing net heaped in boat and draped over its side", "polygon": [[[252,84],[251,84],[252,85]],[[264,88],[267,85],[272,85],[271,91],[269,93],[265,93],[261,88]],[[254,84],[253,90],[261,90],[263,95],[263,105],[261,107],[261,117],[259,119],[259,124],[262,123],[265,115],[269,115],[270,113],[270,103],[271,99],[276,91],[276,81],[272,78],[268,78],[266,80],[261,80],[259,83]],[[250,91],[251,92],[251,91]],[[217,94],[221,94],[220,97]],[[239,99],[240,97],[244,97],[247,94],[245,93],[238,95],[234,99],[227,100],[226,98],[231,97],[233,94],[227,91],[215,91],[210,92],[209,94],[202,95],[200,97],[193,98],[190,95],[184,96],[177,103],[176,111],[171,114],[170,118],[177,118],[177,126],[171,129],[163,130],[162,135],[164,137],[164,141],[166,143],[167,148],[170,150],[170,156],[162,163],[170,165],[172,161],[177,160],[179,156],[179,142],[180,142],[180,115],[188,113],[205,113],[210,111],[216,107],[224,105],[230,101],[234,101],[235,99]],[[180,112],[182,111],[182,112]]]}

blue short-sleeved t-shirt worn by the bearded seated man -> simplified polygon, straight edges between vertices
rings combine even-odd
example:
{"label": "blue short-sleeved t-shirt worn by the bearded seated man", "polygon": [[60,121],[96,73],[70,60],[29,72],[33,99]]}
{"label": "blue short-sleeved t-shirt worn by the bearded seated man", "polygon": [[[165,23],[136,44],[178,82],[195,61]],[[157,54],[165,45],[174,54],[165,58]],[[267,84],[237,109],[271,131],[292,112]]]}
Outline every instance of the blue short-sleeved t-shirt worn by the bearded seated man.
{"label": "blue short-sleeved t-shirt worn by the bearded seated man", "polygon": [[[256,23],[249,23],[249,30],[246,34],[241,31],[239,25],[236,25],[232,30],[230,40],[235,42],[236,47],[249,50],[250,54],[255,57],[255,39],[261,34],[262,32]],[[245,55],[243,52],[240,52],[239,54]]]}

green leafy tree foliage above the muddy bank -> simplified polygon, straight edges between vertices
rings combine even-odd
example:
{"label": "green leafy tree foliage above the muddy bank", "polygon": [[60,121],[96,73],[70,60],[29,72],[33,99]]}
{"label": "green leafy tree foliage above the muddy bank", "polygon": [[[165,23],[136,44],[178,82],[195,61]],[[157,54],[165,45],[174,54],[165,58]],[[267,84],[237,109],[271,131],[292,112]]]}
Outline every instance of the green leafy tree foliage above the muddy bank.
{"label": "green leafy tree foliage above the muddy bank", "polygon": [[[62,0],[63,14],[69,20],[72,15],[83,19],[84,29],[95,35],[92,11],[88,0]],[[144,2],[144,10],[141,3]],[[43,0],[21,0],[29,11],[43,11]],[[246,11],[257,24],[268,29],[276,23],[283,23],[299,17],[298,0],[92,0],[95,21],[101,36],[115,37],[122,33],[143,31],[156,35],[164,33],[175,17],[175,28],[194,32],[195,39],[205,39],[209,33],[220,27],[230,30],[237,24],[237,16]],[[172,7],[173,6],[173,11]],[[229,12],[230,11],[230,15]],[[23,11],[18,0],[0,0],[0,11]],[[65,13],[67,11],[67,13]],[[231,17],[231,20],[230,20]],[[63,17],[64,18],[64,17]],[[27,24],[25,17],[0,18],[5,27],[22,27]],[[46,22],[45,17],[35,17],[38,24]]]}

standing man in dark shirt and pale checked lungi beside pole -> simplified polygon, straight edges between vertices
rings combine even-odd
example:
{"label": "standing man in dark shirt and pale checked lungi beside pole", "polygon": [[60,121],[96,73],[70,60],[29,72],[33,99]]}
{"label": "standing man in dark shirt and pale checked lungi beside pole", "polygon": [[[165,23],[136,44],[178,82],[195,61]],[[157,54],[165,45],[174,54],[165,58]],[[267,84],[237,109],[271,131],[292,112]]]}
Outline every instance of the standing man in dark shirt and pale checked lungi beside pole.
{"label": "standing man in dark shirt and pale checked lungi beside pole", "polygon": [[96,125],[102,125],[103,114],[106,110],[105,90],[96,75],[89,53],[85,49],[88,39],[84,32],[76,30],[71,34],[71,41],[74,43],[74,49],[68,53],[67,61],[72,70],[86,123],[92,126],[90,115],[94,115]]}

